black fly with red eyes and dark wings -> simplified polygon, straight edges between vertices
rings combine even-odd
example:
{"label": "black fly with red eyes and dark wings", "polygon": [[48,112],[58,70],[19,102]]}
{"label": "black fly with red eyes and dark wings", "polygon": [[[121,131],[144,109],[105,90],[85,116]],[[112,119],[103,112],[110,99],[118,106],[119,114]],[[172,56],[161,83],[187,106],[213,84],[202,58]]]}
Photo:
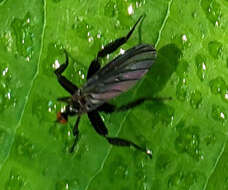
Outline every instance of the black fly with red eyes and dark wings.
{"label": "black fly with red eyes and dark wings", "polygon": [[111,42],[98,52],[97,57],[89,66],[87,82],[82,88],[78,88],[75,84],[72,84],[62,76],[62,73],[69,63],[66,52],[66,62],[55,70],[59,83],[71,94],[69,97],[58,98],[59,101],[67,103],[67,106],[65,111],[57,114],[57,121],[66,123],[68,116],[78,115],[73,129],[75,141],[70,150],[71,152],[73,152],[78,140],[78,124],[80,117],[82,114],[87,113],[96,132],[104,136],[110,144],[128,147],[133,146],[151,156],[151,151],[142,148],[129,140],[109,137],[108,130],[99,115],[99,111],[108,113],[113,112],[114,106],[107,102],[135,85],[155,62],[156,50],[154,47],[147,44],[141,44],[127,50],[124,54],[117,56],[100,69],[99,59],[114,52],[121,45],[126,43],[141,19],[142,16],[125,37]]}

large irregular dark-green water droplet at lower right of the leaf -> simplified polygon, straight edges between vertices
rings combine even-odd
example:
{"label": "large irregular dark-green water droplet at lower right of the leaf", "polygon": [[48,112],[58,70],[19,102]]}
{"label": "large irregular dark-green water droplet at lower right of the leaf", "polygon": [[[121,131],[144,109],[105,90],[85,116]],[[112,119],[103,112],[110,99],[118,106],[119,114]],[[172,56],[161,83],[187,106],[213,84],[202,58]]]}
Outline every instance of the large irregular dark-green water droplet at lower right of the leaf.
{"label": "large irregular dark-green water droplet at lower right of the leaf", "polygon": [[180,128],[175,148],[177,152],[187,153],[198,161],[201,158],[199,128],[195,126]]}

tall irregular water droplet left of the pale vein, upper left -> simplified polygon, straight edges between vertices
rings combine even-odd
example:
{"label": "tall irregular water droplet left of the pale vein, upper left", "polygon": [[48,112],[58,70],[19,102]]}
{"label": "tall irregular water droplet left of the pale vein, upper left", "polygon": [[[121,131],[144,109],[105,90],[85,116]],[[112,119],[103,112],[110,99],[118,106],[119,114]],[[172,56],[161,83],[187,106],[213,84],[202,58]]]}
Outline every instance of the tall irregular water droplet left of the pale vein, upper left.
{"label": "tall irregular water droplet left of the pale vein, upper left", "polygon": [[34,34],[32,33],[30,13],[27,13],[24,19],[15,18],[11,23],[11,28],[15,36],[17,52],[26,60],[31,60]]}

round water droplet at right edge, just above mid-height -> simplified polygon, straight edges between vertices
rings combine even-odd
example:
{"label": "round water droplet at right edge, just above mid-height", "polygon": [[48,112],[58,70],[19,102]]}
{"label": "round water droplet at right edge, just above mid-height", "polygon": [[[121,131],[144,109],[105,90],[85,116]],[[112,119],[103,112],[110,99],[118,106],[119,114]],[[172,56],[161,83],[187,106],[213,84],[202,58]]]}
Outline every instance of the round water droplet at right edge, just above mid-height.
{"label": "round water droplet at right edge, just above mid-height", "polygon": [[226,89],[226,83],[222,77],[217,77],[209,82],[212,94],[221,94]]}

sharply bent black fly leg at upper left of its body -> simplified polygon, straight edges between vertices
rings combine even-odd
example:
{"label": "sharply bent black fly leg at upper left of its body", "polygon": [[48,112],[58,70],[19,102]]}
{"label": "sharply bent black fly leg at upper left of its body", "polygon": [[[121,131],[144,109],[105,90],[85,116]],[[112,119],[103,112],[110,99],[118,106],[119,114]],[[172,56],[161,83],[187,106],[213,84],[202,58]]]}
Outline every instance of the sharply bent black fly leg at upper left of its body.
{"label": "sharply bent black fly leg at upper left of its body", "polygon": [[55,74],[58,78],[58,81],[60,85],[67,90],[70,94],[74,94],[75,91],[77,91],[78,87],[74,85],[72,82],[70,82],[66,77],[62,76],[62,73],[65,71],[69,64],[68,54],[65,51],[66,55],[66,62],[62,64],[58,69],[55,70]]}

